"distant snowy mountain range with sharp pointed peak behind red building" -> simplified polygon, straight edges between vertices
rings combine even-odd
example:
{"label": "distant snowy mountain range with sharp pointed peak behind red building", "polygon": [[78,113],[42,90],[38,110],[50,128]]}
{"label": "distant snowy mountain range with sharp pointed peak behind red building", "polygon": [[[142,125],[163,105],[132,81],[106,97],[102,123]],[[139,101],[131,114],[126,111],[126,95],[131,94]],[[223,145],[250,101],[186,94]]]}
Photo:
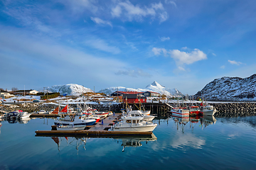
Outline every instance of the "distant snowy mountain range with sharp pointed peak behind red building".
{"label": "distant snowy mountain range with sharp pointed peak behind red building", "polygon": [[126,88],[123,86],[118,86],[118,87],[110,87],[107,89],[103,89],[102,91],[99,91],[99,93],[103,92],[105,94],[112,94],[114,91],[117,91],[117,90],[118,91],[139,91],[139,92],[154,91],[159,94],[165,94],[166,96],[169,96],[169,97],[183,96],[183,94],[181,94],[181,92],[178,91],[177,89],[166,89],[164,86],[161,86],[161,84],[157,83],[156,81],[146,86],[145,89],[133,89],[133,88]]}

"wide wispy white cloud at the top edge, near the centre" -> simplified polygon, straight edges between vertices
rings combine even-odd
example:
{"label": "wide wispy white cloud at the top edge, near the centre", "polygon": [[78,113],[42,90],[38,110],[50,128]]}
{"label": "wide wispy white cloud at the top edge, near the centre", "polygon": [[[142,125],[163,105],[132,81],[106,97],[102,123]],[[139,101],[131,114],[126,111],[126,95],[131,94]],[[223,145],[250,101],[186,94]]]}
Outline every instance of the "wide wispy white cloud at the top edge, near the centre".
{"label": "wide wispy white cloud at the top edge, near the centre", "polygon": [[142,18],[146,16],[159,16],[160,23],[166,21],[168,18],[167,12],[164,10],[163,4],[150,4],[149,6],[141,7],[134,5],[130,1],[118,1],[117,5],[111,9],[113,17],[122,17],[124,20],[137,20],[142,21]]}

